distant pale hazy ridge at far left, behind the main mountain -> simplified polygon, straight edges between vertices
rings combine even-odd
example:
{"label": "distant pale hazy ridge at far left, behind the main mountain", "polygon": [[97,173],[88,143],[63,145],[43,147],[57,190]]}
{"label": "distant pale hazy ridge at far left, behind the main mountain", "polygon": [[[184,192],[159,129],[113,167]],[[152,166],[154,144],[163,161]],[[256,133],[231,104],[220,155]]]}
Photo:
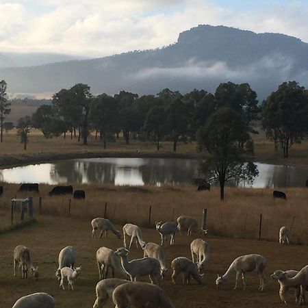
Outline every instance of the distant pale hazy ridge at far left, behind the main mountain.
{"label": "distant pale hazy ridge at far left, behind the main mountain", "polygon": [[71,55],[61,55],[57,53],[7,53],[0,52],[0,68],[38,66],[54,62],[76,60],[77,57]]}

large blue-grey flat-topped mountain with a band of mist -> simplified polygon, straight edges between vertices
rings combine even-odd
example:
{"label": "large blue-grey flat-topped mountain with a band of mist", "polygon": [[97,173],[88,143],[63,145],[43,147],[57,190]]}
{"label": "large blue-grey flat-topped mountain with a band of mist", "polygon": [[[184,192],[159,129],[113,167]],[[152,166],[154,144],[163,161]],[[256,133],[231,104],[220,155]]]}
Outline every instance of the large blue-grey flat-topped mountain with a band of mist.
{"label": "large blue-grey flat-topped mountain with a band of mist", "polygon": [[79,82],[89,84],[94,94],[156,94],[162,88],[214,92],[221,82],[233,81],[248,82],[264,99],[283,81],[308,85],[308,44],[284,34],[199,25],[162,49],[1,68],[0,75],[15,93],[53,93]]}

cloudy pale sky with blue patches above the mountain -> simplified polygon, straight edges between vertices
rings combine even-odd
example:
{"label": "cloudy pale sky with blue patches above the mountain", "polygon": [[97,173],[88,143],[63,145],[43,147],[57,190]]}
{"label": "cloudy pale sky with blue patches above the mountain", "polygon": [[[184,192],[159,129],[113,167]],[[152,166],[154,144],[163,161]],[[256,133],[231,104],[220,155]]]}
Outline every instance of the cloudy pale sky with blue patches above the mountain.
{"label": "cloudy pale sky with blue patches above the mountain", "polygon": [[101,57],[176,42],[200,24],[308,42],[308,0],[0,0],[0,52]]}

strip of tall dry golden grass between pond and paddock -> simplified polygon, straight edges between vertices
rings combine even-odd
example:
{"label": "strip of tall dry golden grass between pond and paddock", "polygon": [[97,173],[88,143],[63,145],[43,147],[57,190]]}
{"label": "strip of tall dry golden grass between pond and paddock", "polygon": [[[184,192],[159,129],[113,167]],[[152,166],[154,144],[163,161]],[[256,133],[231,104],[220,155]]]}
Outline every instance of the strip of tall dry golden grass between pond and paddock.
{"label": "strip of tall dry golden grass between pond and paddock", "polygon": [[[200,222],[203,208],[207,208],[207,229],[212,235],[229,238],[259,238],[259,219],[262,214],[261,238],[277,240],[282,226],[291,227],[292,242],[308,244],[308,189],[285,189],[287,201],[274,200],[270,189],[227,188],[225,201],[219,200],[218,188],[210,192],[196,192],[194,186],[116,187],[112,185],[78,185],[75,189],[86,191],[85,201],[70,196],[50,197],[52,186],[40,185],[42,214],[71,216],[91,220],[105,216],[118,224],[133,222],[149,226],[149,209],[153,226],[158,220],[176,220],[178,216],[193,216]],[[12,196],[18,194],[18,185],[5,184],[1,208],[8,209]],[[34,207],[38,212],[38,196],[34,195]]]}

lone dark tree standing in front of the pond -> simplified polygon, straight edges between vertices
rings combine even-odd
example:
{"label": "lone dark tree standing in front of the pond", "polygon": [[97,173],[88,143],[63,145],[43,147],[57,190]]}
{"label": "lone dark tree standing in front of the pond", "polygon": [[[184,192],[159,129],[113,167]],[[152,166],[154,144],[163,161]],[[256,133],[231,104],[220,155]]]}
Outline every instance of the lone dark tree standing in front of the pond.
{"label": "lone dark tree standing in front of the pond", "polygon": [[[238,112],[231,107],[222,107],[198,130],[198,143],[208,153],[201,164],[202,171],[209,182],[218,181],[221,200],[227,181],[252,182],[258,174],[257,166],[251,160],[253,141],[245,126]],[[240,143],[244,146],[239,146]]]}

